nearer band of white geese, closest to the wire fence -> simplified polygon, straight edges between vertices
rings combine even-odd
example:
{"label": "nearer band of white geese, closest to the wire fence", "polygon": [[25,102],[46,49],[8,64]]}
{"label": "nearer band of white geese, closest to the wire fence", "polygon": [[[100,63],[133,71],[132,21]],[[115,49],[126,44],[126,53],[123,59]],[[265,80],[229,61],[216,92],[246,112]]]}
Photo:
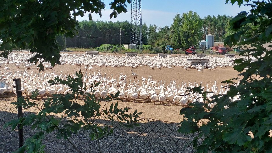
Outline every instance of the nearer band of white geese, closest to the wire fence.
{"label": "nearer band of white geese, closest to the wire fence", "polygon": [[[66,85],[51,85],[47,81],[54,79],[57,75],[53,73],[29,73],[27,71],[15,71],[14,73],[8,72],[5,70],[4,72],[0,71],[1,81],[0,81],[0,94],[4,93],[15,93],[15,82],[12,81],[14,78],[21,79],[21,92],[26,96],[31,96],[33,92],[37,89],[39,96],[50,96],[52,94],[71,94],[71,90]],[[58,75],[61,79],[67,79],[66,75],[60,74]],[[75,74],[72,77],[76,77]],[[94,94],[95,97],[105,97],[109,94],[116,94],[120,91],[119,98],[132,100],[135,102],[137,99],[142,99],[144,102],[152,101],[154,104],[156,102],[159,103],[175,103],[178,105],[186,105],[188,103],[193,103],[198,99],[200,102],[205,102],[202,98],[202,95],[199,93],[190,93],[187,94],[187,87],[193,88],[201,85],[201,88],[206,88],[206,91],[212,91],[212,93],[208,94],[208,99],[211,99],[211,96],[215,94],[225,94],[228,91],[228,88],[217,88],[216,81],[214,85],[209,88],[208,85],[206,87],[202,86],[202,82],[200,84],[194,83],[184,83],[177,84],[176,81],[171,81],[170,84],[166,85],[165,81],[156,81],[152,79],[152,76],[148,77],[148,79],[143,78],[142,83],[138,81],[126,80],[126,75],[120,74],[119,80],[113,79],[113,76],[106,77],[106,74],[102,75],[101,71],[97,74],[84,74],[83,81],[86,83],[86,91],[85,94]],[[100,82],[98,87],[95,87],[96,90],[94,93],[91,91],[91,85],[94,82]],[[84,87],[83,87],[84,88]],[[238,97],[236,97],[237,99]]]}

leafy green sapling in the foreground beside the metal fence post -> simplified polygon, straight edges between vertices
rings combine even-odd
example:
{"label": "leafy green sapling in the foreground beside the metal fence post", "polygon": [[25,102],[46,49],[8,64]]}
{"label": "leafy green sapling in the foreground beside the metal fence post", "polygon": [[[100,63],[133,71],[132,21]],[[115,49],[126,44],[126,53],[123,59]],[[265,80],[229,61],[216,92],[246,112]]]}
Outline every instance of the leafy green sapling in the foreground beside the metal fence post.
{"label": "leafy green sapling in the foreground beside the metal fence post", "polygon": [[[19,102],[12,103],[17,107],[23,106],[24,109],[39,110],[36,114],[29,114],[5,124],[5,127],[11,126],[12,130],[19,123],[21,127],[31,125],[32,129],[36,129],[36,133],[27,138],[24,145],[16,152],[42,152],[44,148],[42,140],[46,134],[56,132],[58,139],[63,138],[69,141],[71,134],[77,134],[80,130],[88,132],[91,140],[98,141],[100,150],[99,141],[113,133],[115,128],[120,126],[133,128],[133,126],[139,125],[135,122],[139,121],[138,117],[141,112],[135,110],[133,114],[128,113],[131,108],[118,108],[118,102],[112,102],[118,98],[119,91],[115,95],[111,94],[105,98],[96,99],[94,88],[100,82],[94,82],[89,88],[86,83],[83,83],[83,77],[82,72],[79,71],[79,73],[76,72],[76,77],[69,75],[65,79],[55,77],[54,80],[48,81],[51,85],[67,85],[72,94],[54,94],[41,103],[41,101],[35,100],[38,95],[38,90],[36,90],[30,99],[21,98]],[[108,103],[111,105],[106,107]],[[109,120],[111,124],[102,125],[100,120]],[[71,143],[71,141],[69,142]],[[75,147],[72,143],[71,146]],[[75,149],[77,148],[75,147]]]}

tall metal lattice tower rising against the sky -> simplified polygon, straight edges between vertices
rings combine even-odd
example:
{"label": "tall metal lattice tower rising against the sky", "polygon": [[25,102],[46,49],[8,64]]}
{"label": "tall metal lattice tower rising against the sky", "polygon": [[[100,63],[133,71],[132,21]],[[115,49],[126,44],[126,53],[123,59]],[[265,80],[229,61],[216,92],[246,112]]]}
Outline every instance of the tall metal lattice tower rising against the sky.
{"label": "tall metal lattice tower rising against the sky", "polygon": [[131,49],[142,51],[142,11],[141,0],[131,1]]}

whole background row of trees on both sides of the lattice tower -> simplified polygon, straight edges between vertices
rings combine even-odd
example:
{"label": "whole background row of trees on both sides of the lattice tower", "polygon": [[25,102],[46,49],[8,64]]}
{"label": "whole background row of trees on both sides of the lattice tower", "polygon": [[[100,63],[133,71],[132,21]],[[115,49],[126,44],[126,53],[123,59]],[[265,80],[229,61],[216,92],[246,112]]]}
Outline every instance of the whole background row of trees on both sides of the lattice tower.
{"label": "whole background row of trees on both sides of the lattice tower", "polygon": [[[229,21],[232,17],[218,15],[203,19],[193,11],[176,14],[172,25],[142,25],[143,44],[152,46],[173,45],[174,48],[187,48],[213,34],[216,41],[224,41],[231,34]],[[66,38],[67,47],[99,47],[101,44],[130,43],[131,24],[128,21],[80,21],[79,37]]]}

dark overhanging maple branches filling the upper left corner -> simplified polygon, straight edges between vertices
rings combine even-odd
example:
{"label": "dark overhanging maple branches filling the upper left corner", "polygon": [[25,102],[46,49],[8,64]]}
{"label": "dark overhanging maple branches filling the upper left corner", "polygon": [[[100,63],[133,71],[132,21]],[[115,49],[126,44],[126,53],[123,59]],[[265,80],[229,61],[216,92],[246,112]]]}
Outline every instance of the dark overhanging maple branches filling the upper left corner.
{"label": "dark overhanging maple branches filling the upper left corner", "polygon": [[[29,59],[38,62],[39,59],[49,61],[52,66],[60,64],[60,47],[56,37],[65,34],[73,37],[76,34],[78,21],[85,12],[99,13],[105,9],[101,0],[10,0],[0,1],[0,38],[3,43],[0,47],[1,56],[7,58],[13,48],[25,49],[28,45],[30,52],[37,53]],[[113,0],[109,5],[113,9],[110,17],[126,12],[126,2],[130,0]],[[31,11],[30,11],[31,10]],[[44,70],[40,62],[40,70]]]}

